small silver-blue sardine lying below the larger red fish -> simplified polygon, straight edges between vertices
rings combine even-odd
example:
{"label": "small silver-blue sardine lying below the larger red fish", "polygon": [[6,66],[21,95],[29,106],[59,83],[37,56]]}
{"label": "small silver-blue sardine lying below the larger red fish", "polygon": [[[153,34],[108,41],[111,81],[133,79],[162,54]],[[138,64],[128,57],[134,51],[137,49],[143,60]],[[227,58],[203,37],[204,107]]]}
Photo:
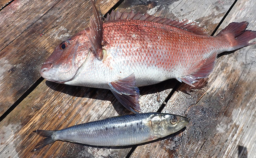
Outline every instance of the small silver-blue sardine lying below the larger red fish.
{"label": "small silver-blue sardine lying below the larger red fish", "polygon": [[140,144],[173,134],[188,121],[180,115],[151,112],[106,118],[57,131],[36,130],[45,138],[34,151],[56,140],[96,146]]}

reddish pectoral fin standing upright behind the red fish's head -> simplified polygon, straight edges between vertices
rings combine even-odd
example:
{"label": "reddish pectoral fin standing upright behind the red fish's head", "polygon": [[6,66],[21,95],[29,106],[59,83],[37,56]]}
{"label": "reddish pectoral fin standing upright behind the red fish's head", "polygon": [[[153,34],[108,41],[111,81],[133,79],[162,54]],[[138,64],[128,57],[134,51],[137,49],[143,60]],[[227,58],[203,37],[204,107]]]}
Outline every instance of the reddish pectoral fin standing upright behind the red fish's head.
{"label": "reddish pectoral fin standing upright behind the red fish's head", "polygon": [[90,33],[87,34],[89,41],[92,45],[92,48],[94,50],[95,56],[101,60],[102,59],[102,37],[103,37],[103,22],[101,19],[101,15],[99,14],[99,11],[97,10],[95,4],[92,2],[92,11],[94,18],[90,17]]}

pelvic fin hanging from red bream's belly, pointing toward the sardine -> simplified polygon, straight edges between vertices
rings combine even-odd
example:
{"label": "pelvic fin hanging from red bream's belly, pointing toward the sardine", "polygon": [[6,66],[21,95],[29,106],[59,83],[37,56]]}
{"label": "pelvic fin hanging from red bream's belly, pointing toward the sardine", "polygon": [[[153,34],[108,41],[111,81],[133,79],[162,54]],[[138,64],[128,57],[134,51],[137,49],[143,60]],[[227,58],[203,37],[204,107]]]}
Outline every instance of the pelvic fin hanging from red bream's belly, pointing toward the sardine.
{"label": "pelvic fin hanging from red bream's belly, pointing toward the sardine", "polygon": [[141,110],[139,104],[140,90],[136,84],[134,73],[128,77],[108,83],[117,100],[134,113],[138,113],[137,111]]}

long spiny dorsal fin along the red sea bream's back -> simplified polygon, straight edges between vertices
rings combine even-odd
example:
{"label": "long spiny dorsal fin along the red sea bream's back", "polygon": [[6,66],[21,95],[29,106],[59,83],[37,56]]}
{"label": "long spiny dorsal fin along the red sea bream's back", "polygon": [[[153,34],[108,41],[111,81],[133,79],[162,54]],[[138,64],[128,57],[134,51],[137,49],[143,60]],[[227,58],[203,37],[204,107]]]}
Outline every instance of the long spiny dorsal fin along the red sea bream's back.
{"label": "long spiny dorsal fin along the red sea bream's back", "polygon": [[171,25],[174,27],[181,28],[186,31],[190,31],[194,34],[209,36],[207,34],[207,32],[203,30],[204,29],[203,27],[198,26],[196,21],[188,20],[188,19],[172,20],[172,19],[167,19],[167,18],[151,16],[148,13],[135,14],[133,11],[131,11],[129,13],[128,12],[120,13],[119,11],[114,12],[112,10],[111,13],[106,16],[104,21],[124,20],[124,19],[144,20],[144,21],[151,21],[151,22],[160,23],[160,24],[168,24],[168,25]]}

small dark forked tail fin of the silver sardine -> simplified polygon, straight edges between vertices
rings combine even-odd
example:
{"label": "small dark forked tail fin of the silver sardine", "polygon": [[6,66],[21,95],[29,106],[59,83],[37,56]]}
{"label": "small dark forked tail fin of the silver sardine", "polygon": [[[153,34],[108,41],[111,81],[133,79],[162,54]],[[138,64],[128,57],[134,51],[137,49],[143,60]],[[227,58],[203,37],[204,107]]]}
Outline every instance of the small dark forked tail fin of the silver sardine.
{"label": "small dark forked tail fin of the silver sardine", "polygon": [[52,138],[52,134],[55,131],[36,130],[36,131],[33,131],[33,132],[36,132],[37,134],[39,134],[39,135],[41,135],[41,136],[43,136],[45,138],[36,145],[35,149],[33,149],[32,152],[37,151],[39,149],[42,149],[46,145],[51,144],[52,142],[56,141],[55,139]]}

